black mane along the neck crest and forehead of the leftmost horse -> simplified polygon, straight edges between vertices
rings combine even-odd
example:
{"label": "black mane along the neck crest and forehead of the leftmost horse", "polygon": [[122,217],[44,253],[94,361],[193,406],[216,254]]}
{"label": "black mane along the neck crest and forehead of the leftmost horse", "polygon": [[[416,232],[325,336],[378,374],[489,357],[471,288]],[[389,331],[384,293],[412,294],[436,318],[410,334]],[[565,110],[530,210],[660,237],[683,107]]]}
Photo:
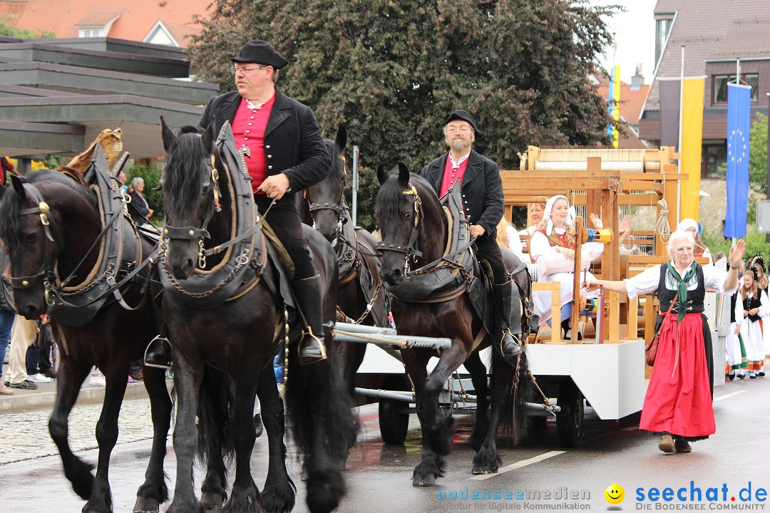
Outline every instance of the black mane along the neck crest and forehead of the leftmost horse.
{"label": "black mane along the neck crest and forehead of the leftmost horse", "polygon": [[[50,169],[41,169],[40,171],[32,172],[29,175],[22,176],[22,183],[35,184],[39,182],[58,182],[71,188],[77,192],[85,201],[89,202],[94,208],[98,208],[96,204],[96,198],[92,192],[75,182],[69,175],[65,175],[59,171],[51,171]],[[0,238],[2,238],[5,248],[8,251],[8,255],[15,255],[18,252],[18,243],[22,239],[22,208],[26,208],[29,205],[28,198],[21,198],[12,187],[8,187],[5,193],[2,195],[2,203],[0,203]]]}

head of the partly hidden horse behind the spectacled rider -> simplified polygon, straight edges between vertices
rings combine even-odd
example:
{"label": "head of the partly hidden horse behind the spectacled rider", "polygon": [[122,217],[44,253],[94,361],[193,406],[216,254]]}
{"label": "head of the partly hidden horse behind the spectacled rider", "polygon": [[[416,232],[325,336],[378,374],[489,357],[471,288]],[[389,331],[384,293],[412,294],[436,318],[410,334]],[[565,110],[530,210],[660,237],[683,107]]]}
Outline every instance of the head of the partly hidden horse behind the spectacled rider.
{"label": "head of the partly hidden horse behind the spectacled rider", "polygon": [[337,237],[343,218],[345,188],[345,156],[343,151],[347,144],[347,132],[340,126],[336,139],[324,139],[326,151],[332,161],[332,168],[328,176],[307,189],[307,201],[310,203],[310,215],[313,217],[313,227],[326,237],[329,242],[334,242]]}

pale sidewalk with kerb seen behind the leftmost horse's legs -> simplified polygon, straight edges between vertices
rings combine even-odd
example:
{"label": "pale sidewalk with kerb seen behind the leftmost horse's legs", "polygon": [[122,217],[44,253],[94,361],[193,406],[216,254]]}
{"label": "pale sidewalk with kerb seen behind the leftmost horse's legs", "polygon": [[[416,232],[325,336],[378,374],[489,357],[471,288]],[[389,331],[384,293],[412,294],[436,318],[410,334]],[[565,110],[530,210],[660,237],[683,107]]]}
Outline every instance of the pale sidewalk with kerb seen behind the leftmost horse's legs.
{"label": "pale sidewalk with kerb seen behind the leftmost horse's legs", "polygon": [[[7,365],[3,368],[3,380],[8,376],[7,368]],[[78,401],[75,403],[76,405],[89,405],[104,401],[105,387],[89,385],[89,378],[85,378],[85,381],[83,381]],[[128,379],[128,376],[126,376],[126,379]],[[172,380],[167,379],[166,384],[170,390]],[[37,390],[22,390],[20,388],[14,388],[13,390],[15,391],[14,395],[0,395],[0,415],[40,408],[53,408],[56,399],[56,380],[52,379],[50,383],[38,383]],[[126,386],[124,399],[142,399],[147,397],[143,381]]]}

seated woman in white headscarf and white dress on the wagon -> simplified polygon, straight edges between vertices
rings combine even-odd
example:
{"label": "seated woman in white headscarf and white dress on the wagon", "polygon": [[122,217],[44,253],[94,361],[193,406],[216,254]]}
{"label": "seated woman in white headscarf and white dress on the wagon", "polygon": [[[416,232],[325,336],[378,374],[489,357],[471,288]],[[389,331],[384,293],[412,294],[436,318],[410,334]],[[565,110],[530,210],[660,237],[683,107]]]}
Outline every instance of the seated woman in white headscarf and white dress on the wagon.
{"label": "seated woman in white headscarf and white dress on the wagon", "polygon": [[[591,223],[594,228],[604,228],[598,215],[591,214]],[[575,258],[575,227],[574,215],[566,196],[551,197],[545,204],[543,219],[534,232],[530,241],[530,256],[537,264],[539,281],[561,283],[561,312],[551,312],[551,293],[536,291],[533,295],[534,311],[540,315],[541,325],[551,325],[551,317],[557,317],[561,322],[565,338],[571,337],[569,325],[572,315],[572,303],[574,300],[574,258]],[[586,242],[582,245],[581,260],[588,263],[596,260],[604,251],[604,245],[598,242]],[[584,270],[584,277],[594,278],[588,270]],[[582,291],[586,298],[595,298],[599,291]],[[555,329],[555,327],[554,327]]]}

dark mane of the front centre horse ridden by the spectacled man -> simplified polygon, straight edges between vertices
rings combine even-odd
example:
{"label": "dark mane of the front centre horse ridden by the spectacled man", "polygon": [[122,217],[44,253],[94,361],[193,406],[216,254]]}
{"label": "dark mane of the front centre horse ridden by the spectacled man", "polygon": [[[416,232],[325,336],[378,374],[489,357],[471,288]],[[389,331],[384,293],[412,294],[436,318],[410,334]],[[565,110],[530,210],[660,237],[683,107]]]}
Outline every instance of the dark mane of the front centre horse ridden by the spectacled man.
{"label": "dark mane of the front centre horse ridden by the spectacled man", "polygon": [[163,188],[169,212],[182,212],[195,205],[206,176],[206,149],[201,144],[198,127],[185,125],[174,137],[174,144],[163,168]]}

